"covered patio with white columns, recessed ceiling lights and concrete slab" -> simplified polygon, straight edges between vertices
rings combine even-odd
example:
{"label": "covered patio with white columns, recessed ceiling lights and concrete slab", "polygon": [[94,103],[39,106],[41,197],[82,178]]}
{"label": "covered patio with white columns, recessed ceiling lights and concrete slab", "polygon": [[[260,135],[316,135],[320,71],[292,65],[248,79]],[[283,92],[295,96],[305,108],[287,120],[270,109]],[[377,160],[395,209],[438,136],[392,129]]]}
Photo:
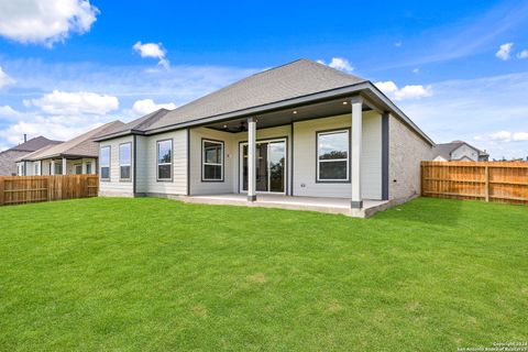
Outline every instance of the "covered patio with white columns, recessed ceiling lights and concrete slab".
{"label": "covered patio with white columns, recessed ceiling lights and concrete slab", "polygon": [[369,217],[388,207],[387,118],[346,94],[190,129],[185,200]]}

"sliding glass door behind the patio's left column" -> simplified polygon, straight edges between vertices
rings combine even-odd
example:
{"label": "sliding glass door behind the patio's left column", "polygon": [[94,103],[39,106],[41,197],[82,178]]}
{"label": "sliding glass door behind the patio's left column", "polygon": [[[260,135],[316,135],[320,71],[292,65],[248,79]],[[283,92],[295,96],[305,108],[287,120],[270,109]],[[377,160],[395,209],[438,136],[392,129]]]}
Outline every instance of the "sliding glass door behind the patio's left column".
{"label": "sliding glass door behind the patio's left column", "polygon": [[[248,191],[248,143],[241,147],[241,191]],[[286,140],[256,142],[256,191],[285,193]]]}

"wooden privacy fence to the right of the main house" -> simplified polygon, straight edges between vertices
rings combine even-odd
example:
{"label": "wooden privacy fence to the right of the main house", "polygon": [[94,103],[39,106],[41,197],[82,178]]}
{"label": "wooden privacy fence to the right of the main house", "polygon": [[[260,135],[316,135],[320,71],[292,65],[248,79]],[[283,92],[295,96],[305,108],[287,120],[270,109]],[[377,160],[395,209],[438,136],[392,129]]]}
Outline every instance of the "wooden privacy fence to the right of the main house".
{"label": "wooden privacy fence to the right of the main house", "polygon": [[528,205],[528,163],[421,162],[421,195]]}

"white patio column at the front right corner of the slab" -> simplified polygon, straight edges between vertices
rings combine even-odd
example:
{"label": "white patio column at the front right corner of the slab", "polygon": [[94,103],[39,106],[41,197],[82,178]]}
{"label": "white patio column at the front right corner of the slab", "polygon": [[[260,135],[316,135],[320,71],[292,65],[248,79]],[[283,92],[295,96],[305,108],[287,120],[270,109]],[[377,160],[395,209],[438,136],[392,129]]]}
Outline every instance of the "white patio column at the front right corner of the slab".
{"label": "white patio column at the front right corner of the slab", "polygon": [[363,98],[353,97],[351,99],[352,105],[352,150],[351,165],[352,168],[352,201],[351,207],[361,209],[363,208],[363,197],[361,196],[361,144],[362,144],[362,130],[363,130]]}

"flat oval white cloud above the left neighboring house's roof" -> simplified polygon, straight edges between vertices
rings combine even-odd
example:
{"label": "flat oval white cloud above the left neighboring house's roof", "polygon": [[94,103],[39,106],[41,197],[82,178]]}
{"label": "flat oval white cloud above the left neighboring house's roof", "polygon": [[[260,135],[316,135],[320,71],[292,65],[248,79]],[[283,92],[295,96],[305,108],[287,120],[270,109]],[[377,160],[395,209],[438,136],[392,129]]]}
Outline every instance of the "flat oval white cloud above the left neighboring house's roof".
{"label": "flat oval white cloud above the left neighboring house's roof", "polygon": [[50,114],[107,114],[119,109],[117,97],[95,92],[54,90],[38,99],[24,100],[26,107],[37,107]]}

